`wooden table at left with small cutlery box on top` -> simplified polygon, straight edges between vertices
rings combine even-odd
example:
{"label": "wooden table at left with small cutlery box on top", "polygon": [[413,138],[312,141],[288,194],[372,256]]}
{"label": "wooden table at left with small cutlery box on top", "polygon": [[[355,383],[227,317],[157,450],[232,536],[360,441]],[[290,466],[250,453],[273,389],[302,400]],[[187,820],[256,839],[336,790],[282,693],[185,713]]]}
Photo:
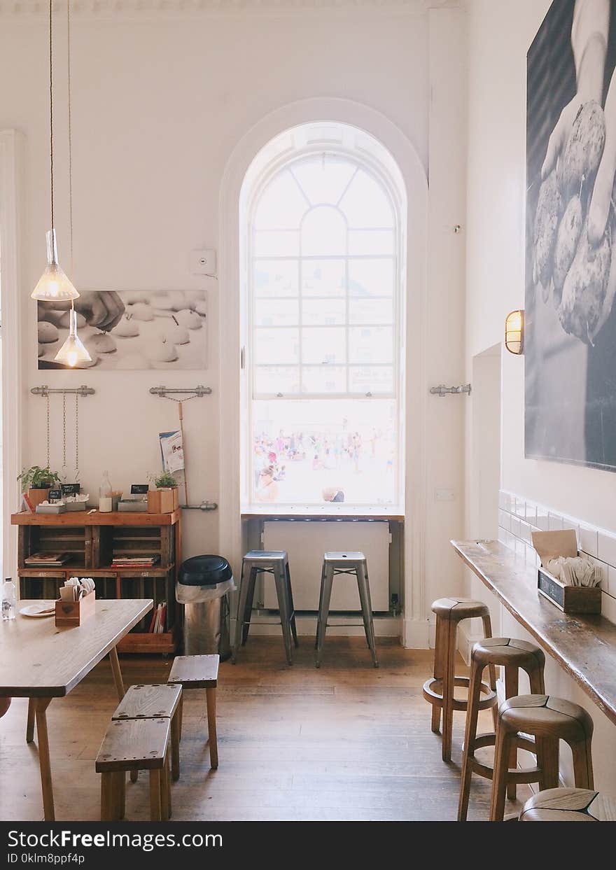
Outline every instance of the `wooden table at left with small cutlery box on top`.
{"label": "wooden table at left with small cutlery box on top", "polygon": [[[37,603],[22,600],[18,608]],[[56,628],[52,616],[32,619],[19,612],[0,623],[0,695],[30,699],[26,740],[34,739],[36,718],[45,821],[55,820],[47,707],[74,689],[107,653],[117,696],[123,699],[117,642],[152,606],[151,599],[100,600],[95,615],[77,628]]]}

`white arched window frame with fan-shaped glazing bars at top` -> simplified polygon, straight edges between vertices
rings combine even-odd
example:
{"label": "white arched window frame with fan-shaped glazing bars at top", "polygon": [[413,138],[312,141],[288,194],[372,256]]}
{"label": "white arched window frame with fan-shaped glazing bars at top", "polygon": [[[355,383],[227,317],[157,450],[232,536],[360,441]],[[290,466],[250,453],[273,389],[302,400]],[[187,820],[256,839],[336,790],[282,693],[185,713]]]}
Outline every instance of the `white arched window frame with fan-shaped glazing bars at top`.
{"label": "white arched window frame with fan-shaped glazing bars at top", "polygon": [[[344,162],[349,168],[350,176],[344,189],[341,191],[337,200],[331,201],[331,197],[325,197],[325,201],[320,201],[313,197],[313,191],[305,191],[302,189],[302,184],[298,183],[298,167],[301,169],[306,162],[311,161],[338,161]],[[295,170],[295,171],[294,171]],[[267,379],[261,377],[260,372],[263,367],[259,365],[257,353],[257,339],[259,331],[267,331],[269,327],[259,325],[257,305],[259,303],[258,292],[255,288],[255,264],[260,258],[274,259],[264,255],[263,249],[259,249],[256,243],[256,234],[267,232],[263,228],[258,228],[258,210],[263,203],[263,198],[267,191],[270,190],[270,185],[280,178],[283,173],[290,172],[298,185],[298,194],[305,199],[305,211],[297,224],[289,229],[289,232],[294,232],[298,237],[298,249],[293,254],[290,254],[288,262],[298,264],[297,278],[297,293],[292,297],[298,308],[298,358],[290,360],[287,366],[280,365],[279,370],[274,371],[274,377]],[[352,189],[352,183],[361,174],[362,178],[370,179],[371,183],[376,184],[378,190],[382,192],[384,201],[389,206],[391,220],[383,225],[378,221],[374,224],[358,224],[356,226],[346,225],[345,228],[345,250],[331,251],[329,254],[306,254],[302,248],[302,229],[305,221],[310,220],[318,210],[322,214],[325,209],[331,210],[340,220],[345,220],[344,201],[347,191]],[[373,499],[374,504],[390,504],[401,505],[404,503],[404,451],[402,445],[404,443],[404,397],[405,397],[405,371],[403,360],[405,358],[404,339],[405,339],[405,292],[406,285],[406,214],[407,203],[405,184],[402,175],[398,169],[393,157],[389,151],[378,142],[378,140],[365,131],[359,130],[357,127],[352,127],[348,124],[302,124],[296,128],[274,137],[271,142],[266,144],[259,151],[257,157],[252,161],[246,175],[244,184],[242,185],[242,195],[240,197],[240,275],[243,278],[243,333],[244,344],[246,345],[245,354],[245,371],[244,371],[244,432],[243,432],[243,456],[249,458],[249,462],[244,461],[243,475],[243,501],[244,503],[252,500],[252,482],[254,475],[251,473],[251,468],[246,467],[251,463],[251,443],[252,443],[252,411],[255,402],[270,400],[270,401],[285,401],[295,399],[298,401],[320,400],[320,401],[340,401],[356,400],[357,402],[372,403],[373,407],[366,408],[367,414],[373,414],[378,417],[379,404],[382,409],[382,404],[385,400],[396,405],[395,411],[395,458],[394,458],[394,477],[395,485],[392,496],[387,499]],[[273,232],[274,229],[271,228]],[[385,237],[387,234],[391,237],[389,250],[376,251],[372,250],[368,253],[363,253],[361,250],[362,234],[366,232],[372,233],[372,238],[379,232]],[[365,238],[365,237],[364,237]],[[281,258],[284,261],[284,258]],[[305,301],[302,292],[302,278],[304,277],[305,264],[316,261],[318,263],[332,262],[345,264],[344,288],[341,288],[339,301],[344,303],[344,317],[340,318],[339,322],[330,323],[327,325],[315,325],[314,323],[305,324],[302,317],[302,304]],[[350,307],[352,302],[358,303],[359,298],[362,301],[370,302],[365,296],[353,297],[350,286],[350,273],[352,268],[358,269],[362,264],[370,264],[375,262],[387,262],[392,268],[392,295],[391,295],[391,320],[388,320],[384,315],[379,315],[375,322],[370,320],[355,319],[350,317]],[[343,298],[344,296],[344,298]],[[378,304],[377,298],[372,300]],[[382,302],[388,303],[389,298],[386,294],[381,294]],[[314,301],[318,303],[318,298],[315,296]],[[285,297],[280,298],[280,302],[285,302]],[[278,306],[280,307],[280,306]],[[376,305],[374,305],[376,307]],[[276,327],[274,327],[275,329]],[[295,327],[290,327],[295,328]],[[321,334],[325,335],[325,331],[330,331],[331,334],[336,334],[337,330],[344,329],[345,340],[341,343],[344,345],[344,359],[339,355],[333,354],[333,358],[329,359],[314,359],[307,361],[305,358],[305,341],[302,340],[302,330],[305,328],[304,335],[312,330],[317,334],[318,329]],[[367,365],[360,358],[352,358],[352,339],[357,337],[361,331],[366,328],[374,329],[381,332],[383,357],[378,361],[372,360],[372,365]],[[285,327],[278,325],[281,334],[284,333]],[[391,329],[388,334],[387,330]],[[287,335],[289,330],[287,330]],[[338,336],[340,332],[338,332]],[[357,343],[356,343],[357,344]],[[293,378],[275,377],[278,375],[292,374],[292,370],[297,372],[297,378],[293,382]],[[323,378],[322,373],[327,371],[327,375]],[[374,379],[372,376],[377,371],[383,374],[382,380]],[[332,372],[334,376],[332,377]],[[310,377],[308,377],[310,373]],[[313,377],[314,373],[316,378]],[[367,377],[366,377],[367,375]],[[330,383],[327,389],[318,389],[318,383],[321,380],[321,385],[327,378],[330,378]],[[285,502],[278,502],[285,504]],[[303,503],[302,501],[294,501],[293,504]],[[359,502],[362,505],[369,504],[362,500]]]}

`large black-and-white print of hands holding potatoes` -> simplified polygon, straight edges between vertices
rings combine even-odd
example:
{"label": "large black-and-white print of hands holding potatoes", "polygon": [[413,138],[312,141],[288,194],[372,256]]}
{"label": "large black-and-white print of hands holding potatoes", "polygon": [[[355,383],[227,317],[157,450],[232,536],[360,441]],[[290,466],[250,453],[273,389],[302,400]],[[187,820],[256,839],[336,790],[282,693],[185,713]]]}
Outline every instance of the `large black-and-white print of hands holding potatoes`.
{"label": "large black-and-white print of hands holding potatoes", "polygon": [[616,471],[616,0],[554,0],[527,56],[526,457]]}

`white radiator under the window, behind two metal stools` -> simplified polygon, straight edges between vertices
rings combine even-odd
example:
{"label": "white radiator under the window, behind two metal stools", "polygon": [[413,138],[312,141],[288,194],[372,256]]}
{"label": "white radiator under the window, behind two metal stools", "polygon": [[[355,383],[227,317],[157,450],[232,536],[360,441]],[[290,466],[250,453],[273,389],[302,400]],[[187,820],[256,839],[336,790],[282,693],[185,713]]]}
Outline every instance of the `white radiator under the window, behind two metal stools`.
{"label": "white radiator under the window, behind two metal stools", "polygon": [[[278,522],[264,523],[264,550],[289,553],[293,604],[296,610],[318,610],[323,553],[359,550],[368,564],[373,611],[389,610],[389,523]],[[264,574],[264,606],[278,610],[270,574]],[[359,611],[357,580],[346,574],[334,577],[330,610]]]}

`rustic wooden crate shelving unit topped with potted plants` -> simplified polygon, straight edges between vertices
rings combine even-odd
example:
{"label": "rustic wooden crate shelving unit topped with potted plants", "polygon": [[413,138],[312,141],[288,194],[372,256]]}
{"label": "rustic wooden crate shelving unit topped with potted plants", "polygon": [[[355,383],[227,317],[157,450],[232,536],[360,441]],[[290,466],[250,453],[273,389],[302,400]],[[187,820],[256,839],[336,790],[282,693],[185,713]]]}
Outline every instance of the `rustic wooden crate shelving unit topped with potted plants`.
{"label": "rustic wooden crate shelving unit topped with potted plants", "polygon": [[[57,599],[69,577],[92,577],[98,599],[151,598],[167,605],[165,631],[148,632],[151,613],[120,642],[122,653],[174,653],[179,608],[175,583],[182,559],[180,512],[59,514],[14,513],[18,530],[19,593],[23,599]],[[56,568],[30,568],[35,552],[69,552],[70,561]],[[160,556],[148,569],[111,568],[117,556]]]}

